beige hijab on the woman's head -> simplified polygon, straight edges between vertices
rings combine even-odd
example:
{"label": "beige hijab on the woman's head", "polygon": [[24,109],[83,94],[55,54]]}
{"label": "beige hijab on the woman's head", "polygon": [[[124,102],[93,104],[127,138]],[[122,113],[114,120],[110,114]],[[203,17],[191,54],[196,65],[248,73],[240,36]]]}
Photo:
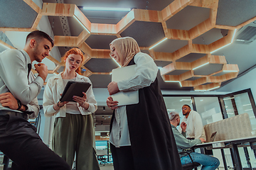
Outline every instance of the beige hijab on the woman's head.
{"label": "beige hijab on the woman's head", "polygon": [[127,66],[134,55],[140,52],[137,41],[130,37],[117,38],[110,45],[113,45],[115,50],[117,50],[122,67]]}

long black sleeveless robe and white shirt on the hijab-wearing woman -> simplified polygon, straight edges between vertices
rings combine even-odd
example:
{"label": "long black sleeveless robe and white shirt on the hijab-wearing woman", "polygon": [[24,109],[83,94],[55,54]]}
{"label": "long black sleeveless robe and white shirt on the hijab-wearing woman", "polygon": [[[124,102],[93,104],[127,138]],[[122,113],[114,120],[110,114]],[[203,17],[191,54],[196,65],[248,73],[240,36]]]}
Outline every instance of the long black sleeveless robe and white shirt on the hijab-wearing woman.
{"label": "long black sleeveless robe and white shirt on the hijab-wearing woman", "polygon": [[121,106],[112,115],[110,142],[114,147],[131,146],[135,169],[180,170],[181,162],[161,94],[154,60],[137,53],[128,65],[137,64],[136,74],[117,83],[120,91],[139,89],[139,103]]}

